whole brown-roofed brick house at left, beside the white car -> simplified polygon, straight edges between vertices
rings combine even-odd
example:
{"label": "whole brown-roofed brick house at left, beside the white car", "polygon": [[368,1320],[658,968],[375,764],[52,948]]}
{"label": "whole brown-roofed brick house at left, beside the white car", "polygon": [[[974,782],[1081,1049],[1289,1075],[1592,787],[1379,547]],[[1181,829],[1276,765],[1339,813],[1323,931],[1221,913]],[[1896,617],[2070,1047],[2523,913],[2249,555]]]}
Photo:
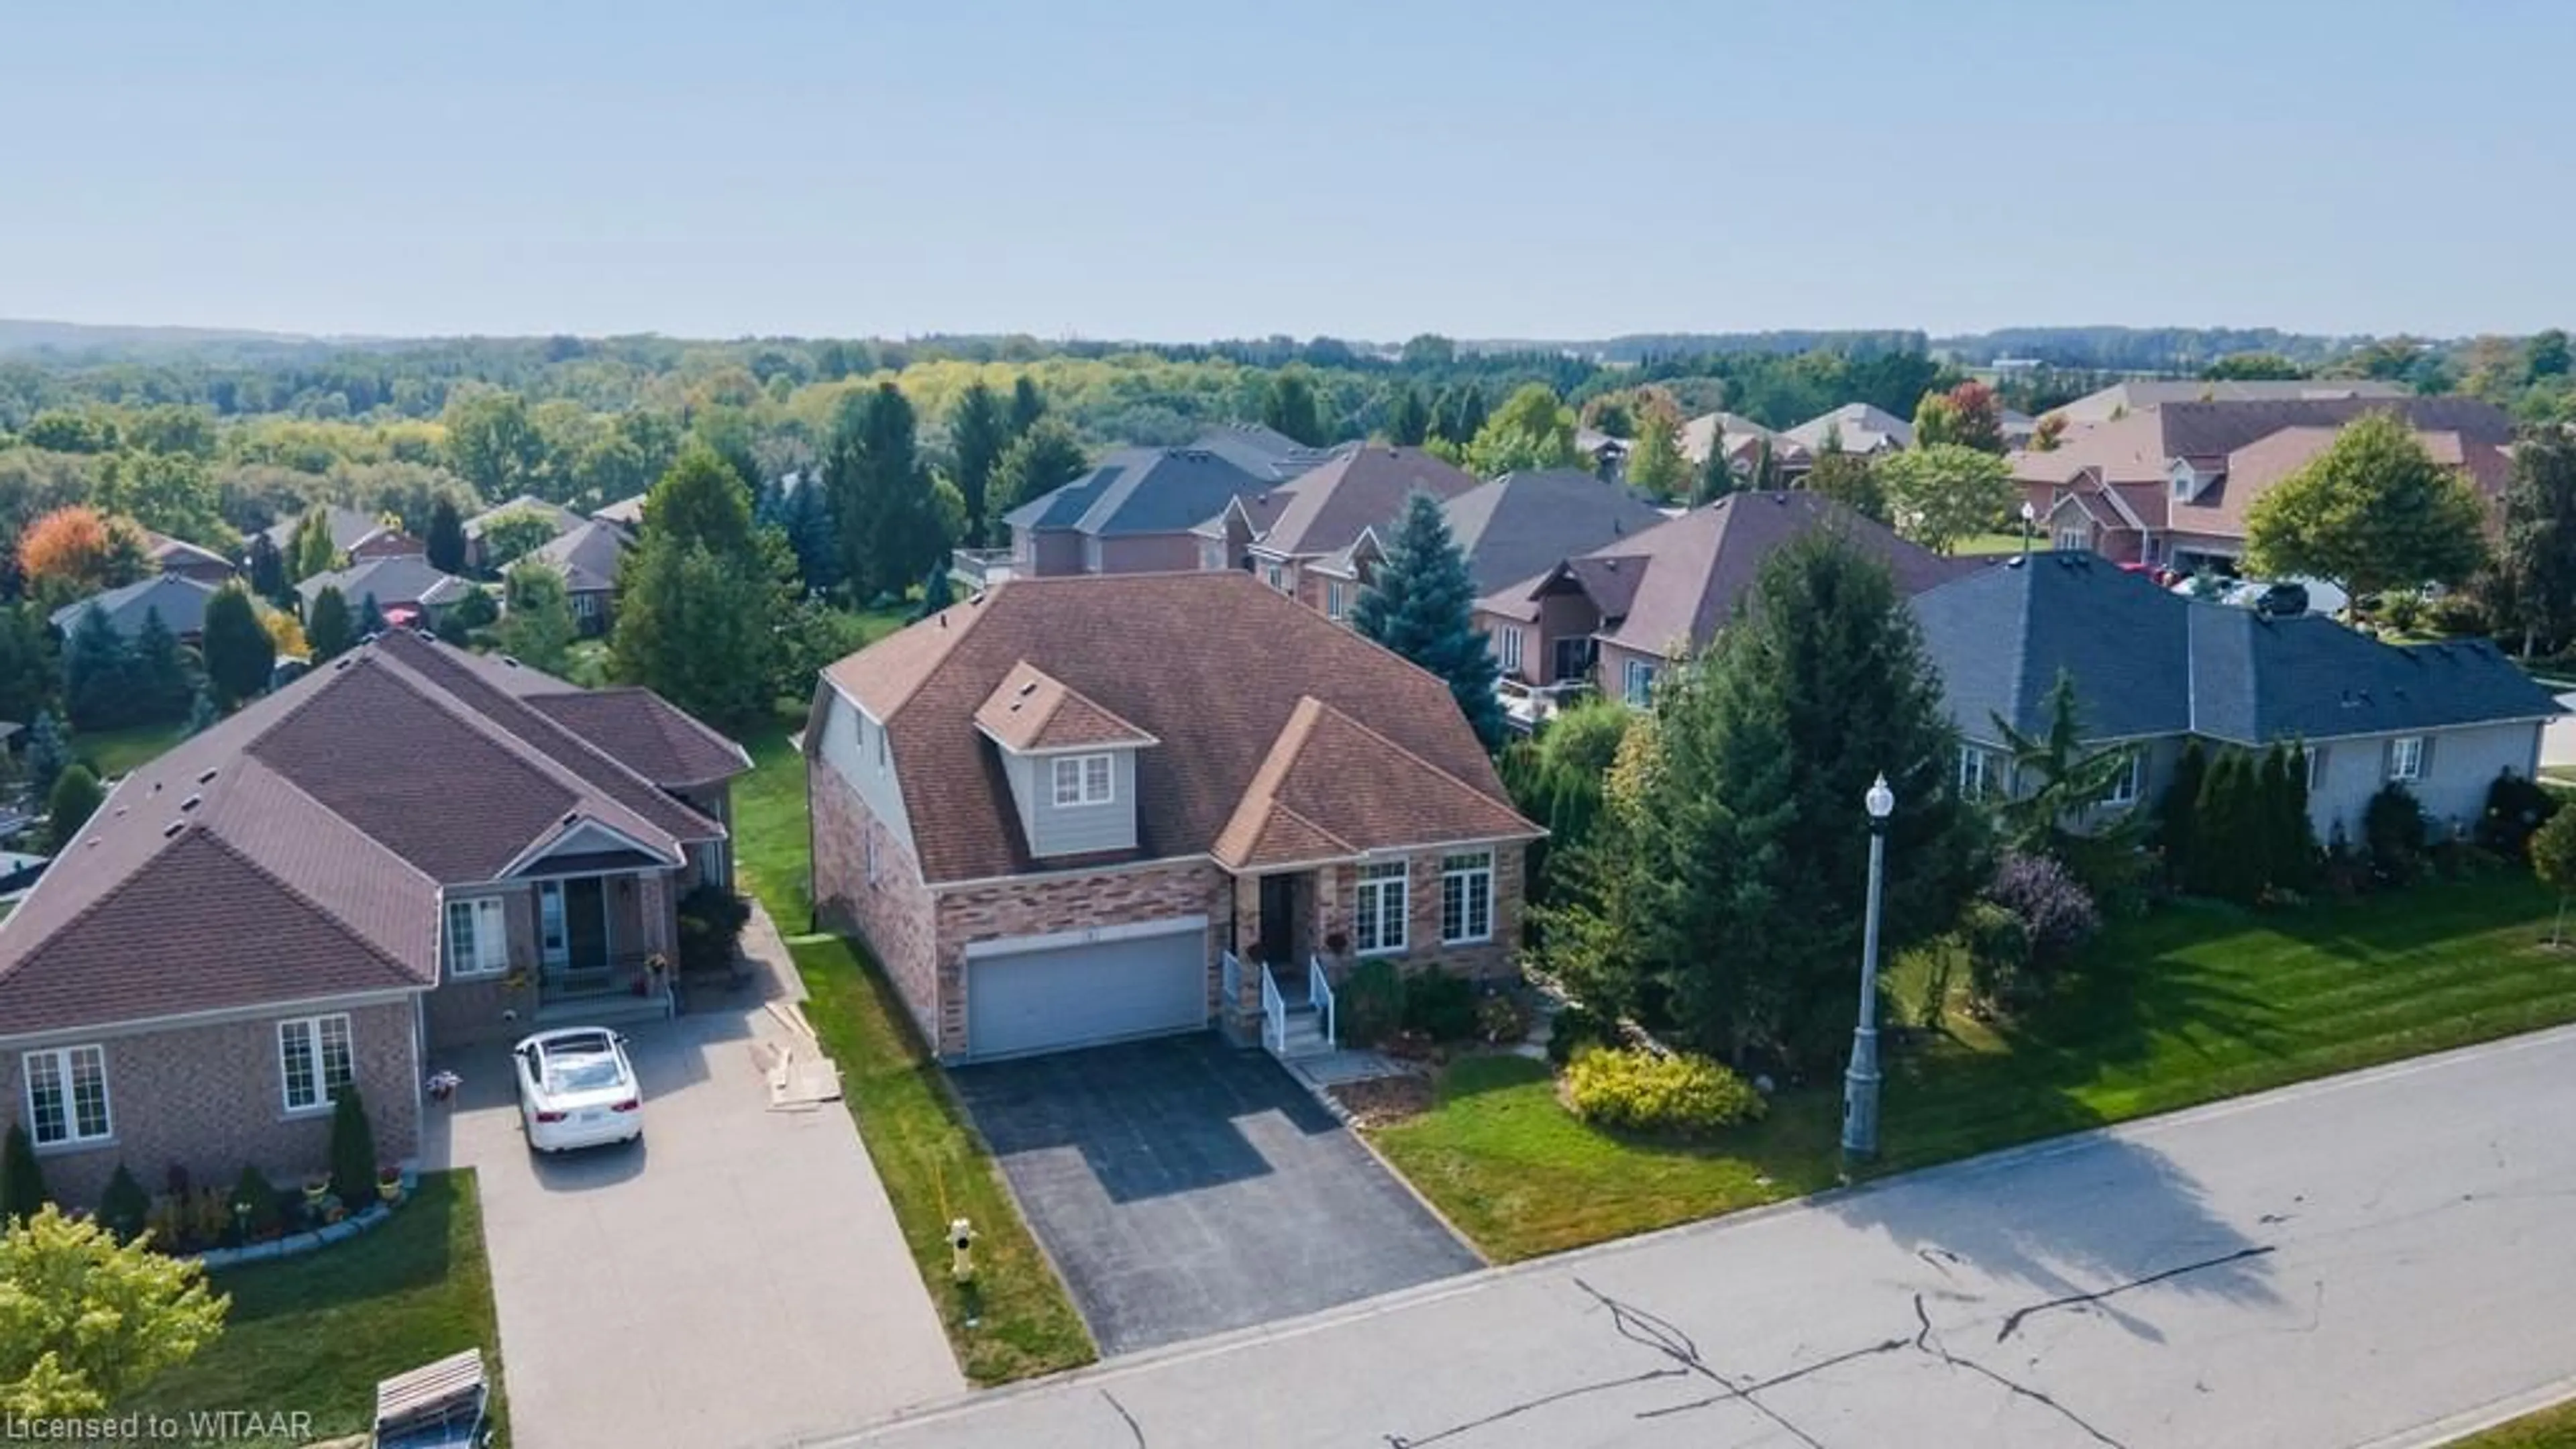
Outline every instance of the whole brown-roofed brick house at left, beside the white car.
{"label": "whole brown-roofed brick house at left, beside the white car", "polygon": [[343,1083],[410,1158],[440,1049],[667,1006],[744,768],[647,691],[361,645],[129,773],[0,926],[0,1114],[75,1207],[294,1181]]}

